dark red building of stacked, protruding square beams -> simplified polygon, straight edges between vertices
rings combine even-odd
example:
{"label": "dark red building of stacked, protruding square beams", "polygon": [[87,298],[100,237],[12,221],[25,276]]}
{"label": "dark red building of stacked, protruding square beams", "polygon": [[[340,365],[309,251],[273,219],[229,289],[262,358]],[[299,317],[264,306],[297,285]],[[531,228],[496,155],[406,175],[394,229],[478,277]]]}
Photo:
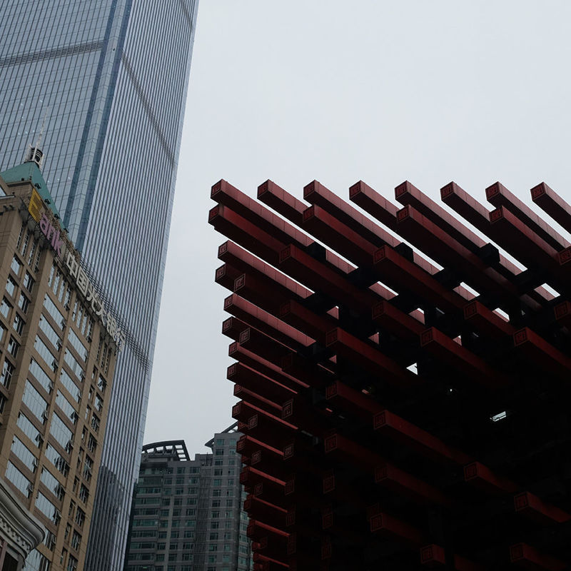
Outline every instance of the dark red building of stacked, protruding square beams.
{"label": "dark red building of stacked, protruding square beams", "polygon": [[571,569],[571,206],[531,192],[213,186],[256,570]]}

